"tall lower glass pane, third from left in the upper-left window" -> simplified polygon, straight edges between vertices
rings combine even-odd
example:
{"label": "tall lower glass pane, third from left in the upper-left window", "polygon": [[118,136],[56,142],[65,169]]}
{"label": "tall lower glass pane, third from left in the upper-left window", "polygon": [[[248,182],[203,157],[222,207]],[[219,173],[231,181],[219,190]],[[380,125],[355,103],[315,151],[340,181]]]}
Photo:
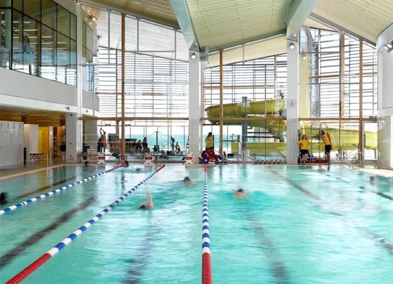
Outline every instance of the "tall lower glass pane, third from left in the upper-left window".
{"label": "tall lower glass pane, third from left in the upper-left window", "polygon": [[38,35],[40,24],[29,17],[24,17],[23,23],[23,72],[36,75],[38,71]]}

